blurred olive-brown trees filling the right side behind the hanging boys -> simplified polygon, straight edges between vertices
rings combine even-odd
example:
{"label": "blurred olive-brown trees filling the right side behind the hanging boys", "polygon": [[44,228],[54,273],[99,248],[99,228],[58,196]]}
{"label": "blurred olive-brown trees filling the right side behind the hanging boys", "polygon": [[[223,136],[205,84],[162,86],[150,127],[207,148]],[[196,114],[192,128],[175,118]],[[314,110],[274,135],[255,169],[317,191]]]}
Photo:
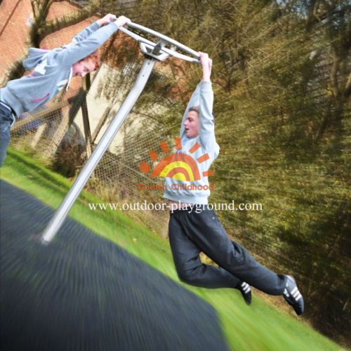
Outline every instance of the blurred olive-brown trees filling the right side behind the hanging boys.
{"label": "blurred olive-brown trees filling the right side behind the hanging boys", "polygon": [[[213,164],[220,190],[211,201],[266,208],[220,211],[227,231],[273,270],[295,274],[309,306],[305,317],[345,341],[351,289],[350,2],[143,4],[152,9],[143,25],[213,58],[221,152]],[[199,69],[172,65],[187,102]],[[162,117],[168,114],[164,134],[175,135],[181,113]]]}

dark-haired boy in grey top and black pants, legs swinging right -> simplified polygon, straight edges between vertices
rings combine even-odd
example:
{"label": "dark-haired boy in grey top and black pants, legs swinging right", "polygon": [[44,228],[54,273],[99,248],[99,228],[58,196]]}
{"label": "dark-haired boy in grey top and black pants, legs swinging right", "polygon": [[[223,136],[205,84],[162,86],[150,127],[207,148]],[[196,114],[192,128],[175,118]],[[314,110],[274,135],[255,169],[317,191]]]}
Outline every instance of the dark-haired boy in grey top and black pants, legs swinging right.
{"label": "dark-haired boy in grey top and black pants, legs swinging right", "polygon": [[[174,155],[174,161],[188,163],[189,157],[197,160],[199,176],[195,175],[191,182],[166,177],[164,192],[171,210],[168,237],[178,276],[194,286],[238,289],[248,305],[254,286],[267,294],[284,296],[296,314],[302,314],[303,297],[293,277],[275,274],[257,263],[246,249],[229,239],[216,213],[207,206],[211,189],[208,169],[218,157],[219,146],[212,114],[212,61],[205,53],[199,55],[203,77],[185,110],[180,128],[181,147],[177,147]],[[176,169],[180,172],[180,168]],[[201,252],[219,267],[201,263]]]}

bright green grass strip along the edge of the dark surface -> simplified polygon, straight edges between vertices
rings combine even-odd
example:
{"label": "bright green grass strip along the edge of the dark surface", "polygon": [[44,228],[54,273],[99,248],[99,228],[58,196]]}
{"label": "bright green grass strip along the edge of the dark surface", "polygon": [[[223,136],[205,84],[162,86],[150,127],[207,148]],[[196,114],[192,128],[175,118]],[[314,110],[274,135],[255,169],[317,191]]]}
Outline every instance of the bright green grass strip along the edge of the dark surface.
{"label": "bright green grass strip along the edge of the dark surface", "polygon": [[[11,148],[0,174],[8,183],[54,208],[60,205],[72,185],[39,161]],[[134,223],[124,211],[91,211],[87,205],[99,202],[103,201],[82,192],[69,216],[179,282],[168,242]],[[301,319],[292,317],[258,296],[253,295],[253,303],[248,307],[238,291],[182,285],[218,311],[223,333],[232,350],[342,350]]]}

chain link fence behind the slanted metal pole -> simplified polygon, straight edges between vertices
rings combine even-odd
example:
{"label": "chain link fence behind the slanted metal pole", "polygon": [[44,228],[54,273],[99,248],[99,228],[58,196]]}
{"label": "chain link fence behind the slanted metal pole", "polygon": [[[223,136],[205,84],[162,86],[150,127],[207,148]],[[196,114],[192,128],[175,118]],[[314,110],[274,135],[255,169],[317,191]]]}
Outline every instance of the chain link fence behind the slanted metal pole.
{"label": "chain link fence behind the slanted metal pole", "polygon": [[[82,90],[70,91],[44,109],[22,114],[11,130],[11,146],[46,159],[54,171],[74,178],[84,166],[89,154],[89,140],[84,132],[82,99],[86,97],[93,149],[133,85],[138,68],[138,64],[126,64],[116,72],[115,69],[102,65],[86,95]],[[101,89],[104,79],[111,78],[112,75],[117,81],[128,77],[128,83],[121,85],[117,95],[107,100],[101,95]],[[154,130],[149,117],[147,111],[135,108],[100,160],[86,187],[98,195],[101,201],[119,203],[120,206],[137,202],[142,204],[145,201],[150,204],[164,202],[161,191],[148,191],[138,187],[140,184],[151,183],[162,186],[164,183],[162,178],[150,179],[150,173],[147,176],[139,168],[143,161],[152,168],[157,164],[152,161],[149,153],[153,150],[161,156],[163,152],[160,144],[166,140],[163,131]],[[174,148],[172,138],[168,138],[168,145],[168,153],[171,153],[172,147]],[[167,211],[128,211],[128,215],[146,223],[151,230],[166,237]]]}

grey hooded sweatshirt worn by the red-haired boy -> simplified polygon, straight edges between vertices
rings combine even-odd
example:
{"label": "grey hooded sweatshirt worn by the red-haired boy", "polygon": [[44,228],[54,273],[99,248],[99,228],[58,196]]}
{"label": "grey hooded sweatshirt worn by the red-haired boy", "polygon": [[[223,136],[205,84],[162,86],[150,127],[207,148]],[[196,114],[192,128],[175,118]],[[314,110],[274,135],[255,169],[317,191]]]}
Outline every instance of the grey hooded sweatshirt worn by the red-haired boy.
{"label": "grey hooded sweatshirt worn by the red-haired boy", "polygon": [[93,53],[118,29],[114,22],[100,27],[93,22],[77,34],[70,44],[45,50],[29,48],[28,58],[23,61],[26,70],[32,73],[9,81],[0,89],[1,101],[19,116],[32,112],[53,99],[72,78],[72,65]]}

